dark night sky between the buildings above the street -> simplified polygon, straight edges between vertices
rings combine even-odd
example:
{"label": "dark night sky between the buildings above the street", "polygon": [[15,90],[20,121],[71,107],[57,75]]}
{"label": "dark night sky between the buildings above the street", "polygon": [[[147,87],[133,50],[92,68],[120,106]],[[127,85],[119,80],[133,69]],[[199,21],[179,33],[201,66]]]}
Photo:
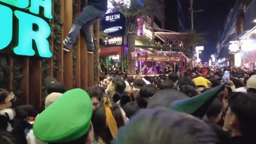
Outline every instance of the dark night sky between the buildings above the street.
{"label": "dark night sky between the buildings above the street", "polygon": [[[186,28],[190,29],[189,0],[181,1],[186,16]],[[202,62],[208,62],[210,55],[216,53],[218,31],[222,34],[224,21],[235,2],[236,0],[194,0],[194,11],[204,10],[194,14],[194,29],[207,34],[208,43],[204,45],[204,51],[200,54]]]}

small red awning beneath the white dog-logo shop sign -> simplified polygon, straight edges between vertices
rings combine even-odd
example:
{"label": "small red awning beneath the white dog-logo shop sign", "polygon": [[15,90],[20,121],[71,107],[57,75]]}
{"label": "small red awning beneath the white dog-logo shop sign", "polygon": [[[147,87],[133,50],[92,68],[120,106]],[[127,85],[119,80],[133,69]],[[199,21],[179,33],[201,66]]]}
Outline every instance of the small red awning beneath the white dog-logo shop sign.
{"label": "small red awning beneath the white dog-logo shop sign", "polygon": [[100,50],[100,56],[121,55],[122,46],[105,47]]}

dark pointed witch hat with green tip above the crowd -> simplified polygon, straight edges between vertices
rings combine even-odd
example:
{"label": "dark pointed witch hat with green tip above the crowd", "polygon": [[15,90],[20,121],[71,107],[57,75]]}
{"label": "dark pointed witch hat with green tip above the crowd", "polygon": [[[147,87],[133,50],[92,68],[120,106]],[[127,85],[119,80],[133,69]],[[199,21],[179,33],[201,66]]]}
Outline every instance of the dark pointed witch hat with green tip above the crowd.
{"label": "dark pointed witch hat with green tip above the crowd", "polygon": [[166,89],[160,90],[152,96],[148,102],[147,108],[170,108],[178,112],[184,112],[203,118],[206,111],[213,100],[218,95],[218,92],[222,90],[223,85],[217,86],[208,90],[202,94],[189,98],[186,94],[177,90]]}

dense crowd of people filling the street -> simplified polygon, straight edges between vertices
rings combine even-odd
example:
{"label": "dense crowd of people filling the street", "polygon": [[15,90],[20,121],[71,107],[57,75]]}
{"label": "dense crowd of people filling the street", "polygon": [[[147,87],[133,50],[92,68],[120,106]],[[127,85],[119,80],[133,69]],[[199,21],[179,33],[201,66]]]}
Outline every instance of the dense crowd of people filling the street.
{"label": "dense crowd of people filling the street", "polygon": [[0,89],[0,144],[255,144],[256,71],[229,67],[136,76],[66,90],[44,79],[44,109]]}

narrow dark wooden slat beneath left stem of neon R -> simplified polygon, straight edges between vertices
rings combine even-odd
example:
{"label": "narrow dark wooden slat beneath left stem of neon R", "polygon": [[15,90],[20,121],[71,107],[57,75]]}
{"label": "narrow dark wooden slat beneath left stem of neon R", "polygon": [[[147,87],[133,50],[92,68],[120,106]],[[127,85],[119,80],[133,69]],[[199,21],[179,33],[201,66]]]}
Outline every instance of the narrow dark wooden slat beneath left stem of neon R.
{"label": "narrow dark wooden slat beneath left stem of neon R", "polygon": [[[41,78],[40,78],[41,79]],[[29,58],[23,58],[21,89],[24,95],[21,103],[29,103]]]}

